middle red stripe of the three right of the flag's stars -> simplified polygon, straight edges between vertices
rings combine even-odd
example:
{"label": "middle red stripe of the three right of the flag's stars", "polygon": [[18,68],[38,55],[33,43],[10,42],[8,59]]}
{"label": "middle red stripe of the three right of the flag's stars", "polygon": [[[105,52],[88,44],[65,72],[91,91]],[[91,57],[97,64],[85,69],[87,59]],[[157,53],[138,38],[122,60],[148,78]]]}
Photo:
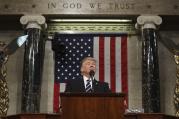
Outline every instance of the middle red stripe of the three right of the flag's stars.
{"label": "middle red stripe of the three right of the flag's stars", "polygon": [[116,92],[116,61],[115,61],[115,37],[110,38],[110,80],[111,91]]}

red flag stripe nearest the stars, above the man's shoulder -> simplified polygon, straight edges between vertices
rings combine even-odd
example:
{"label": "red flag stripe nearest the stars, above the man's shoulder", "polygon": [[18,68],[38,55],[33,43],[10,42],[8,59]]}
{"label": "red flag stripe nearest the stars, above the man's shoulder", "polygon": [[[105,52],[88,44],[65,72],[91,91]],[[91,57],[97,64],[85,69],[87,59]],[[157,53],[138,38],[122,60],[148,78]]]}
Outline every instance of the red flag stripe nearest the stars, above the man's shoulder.
{"label": "red flag stripe nearest the stars, above the man's shoulder", "polygon": [[104,37],[99,37],[99,80],[104,81]]}

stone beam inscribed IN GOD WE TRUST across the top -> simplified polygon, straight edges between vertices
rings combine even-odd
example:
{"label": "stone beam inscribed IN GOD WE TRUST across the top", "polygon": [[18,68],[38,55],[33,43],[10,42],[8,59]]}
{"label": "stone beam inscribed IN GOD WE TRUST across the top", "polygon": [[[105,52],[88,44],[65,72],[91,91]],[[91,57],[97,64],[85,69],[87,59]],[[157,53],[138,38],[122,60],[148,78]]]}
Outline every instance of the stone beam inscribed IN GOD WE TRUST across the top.
{"label": "stone beam inscribed IN GOD WE TRUST across the top", "polygon": [[0,15],[179,15],[179,0],[0,0],[0,3]]}

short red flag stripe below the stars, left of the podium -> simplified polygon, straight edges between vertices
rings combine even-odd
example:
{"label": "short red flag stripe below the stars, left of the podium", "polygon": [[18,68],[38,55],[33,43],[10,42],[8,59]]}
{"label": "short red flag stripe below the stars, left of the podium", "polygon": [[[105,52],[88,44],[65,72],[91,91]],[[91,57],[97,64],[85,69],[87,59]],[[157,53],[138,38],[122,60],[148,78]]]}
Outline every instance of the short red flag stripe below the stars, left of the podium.
{"label": "short red flag stripe below the stars, left of the podium", "polygon": [[58,112],[59,110],[59,89],[60,89],[60,84],[54,83],[54,98],[53,98],[53,112]]}

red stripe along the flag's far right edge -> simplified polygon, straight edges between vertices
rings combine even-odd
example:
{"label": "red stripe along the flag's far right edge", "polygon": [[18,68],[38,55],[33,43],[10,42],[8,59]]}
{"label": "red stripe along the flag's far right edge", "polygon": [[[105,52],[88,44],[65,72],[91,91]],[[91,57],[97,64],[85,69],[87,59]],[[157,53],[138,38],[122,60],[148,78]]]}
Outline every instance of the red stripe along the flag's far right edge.
{"label": "red stripe along the flag's far right edge", "polygon": [[127,36],[121,37],[121,79],[122,79],[122,92],[128,92],[127,80]]}

